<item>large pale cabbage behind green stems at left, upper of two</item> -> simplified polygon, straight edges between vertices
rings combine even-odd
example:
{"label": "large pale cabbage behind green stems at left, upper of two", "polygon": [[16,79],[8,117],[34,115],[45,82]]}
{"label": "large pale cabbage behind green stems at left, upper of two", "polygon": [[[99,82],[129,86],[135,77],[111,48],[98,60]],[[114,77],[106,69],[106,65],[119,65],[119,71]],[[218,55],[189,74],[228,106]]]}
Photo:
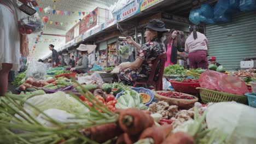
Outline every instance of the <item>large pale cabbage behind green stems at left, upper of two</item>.
{"label": "large pale cabbage behind green stems at left, upper of two", "polygon": [[[81,104],[77,99],[61,91],[53,94],[44,94],[32,97],[27,99],[26,103],[33,104],[40,111],[59,109],[76,115],[89,112],[88,108]],[[26,103],[24,104],[24,109],[30,110],[34,115],[38,116],[40,112]]]}

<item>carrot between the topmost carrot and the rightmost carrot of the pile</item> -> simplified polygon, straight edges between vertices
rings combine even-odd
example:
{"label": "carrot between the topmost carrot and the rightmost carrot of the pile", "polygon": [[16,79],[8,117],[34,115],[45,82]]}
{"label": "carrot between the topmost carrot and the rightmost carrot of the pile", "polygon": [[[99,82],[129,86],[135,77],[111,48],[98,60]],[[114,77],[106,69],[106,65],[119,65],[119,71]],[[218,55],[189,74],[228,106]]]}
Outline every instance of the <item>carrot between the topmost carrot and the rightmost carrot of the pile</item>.
{"label": "carrot between the topmost carrot and the rightmost carrot of the pile", "polygon": [[154,143],[161,143],[166,139],[168,134],[170,134],[172,129],[173,127],[171,124],[162,125],[160,127],[154,125],[153,127],[145,129],[141,136],[139,136],[139,140],[152,138]]}

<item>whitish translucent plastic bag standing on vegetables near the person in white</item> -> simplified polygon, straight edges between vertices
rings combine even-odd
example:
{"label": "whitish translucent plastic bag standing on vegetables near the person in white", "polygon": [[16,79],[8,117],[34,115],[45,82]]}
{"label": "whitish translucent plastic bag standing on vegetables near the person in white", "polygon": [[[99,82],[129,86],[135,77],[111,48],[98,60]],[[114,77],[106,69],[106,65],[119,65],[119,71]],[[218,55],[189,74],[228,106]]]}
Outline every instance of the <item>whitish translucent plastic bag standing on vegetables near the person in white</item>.
{"label": "whitish translucent plastic bag standing on vegetables near the person in white", "polygon": [[46,75],[47,66],[42,62],[32,61],[27,68],[26,79],[34,77],[36,80],[44,80]]}

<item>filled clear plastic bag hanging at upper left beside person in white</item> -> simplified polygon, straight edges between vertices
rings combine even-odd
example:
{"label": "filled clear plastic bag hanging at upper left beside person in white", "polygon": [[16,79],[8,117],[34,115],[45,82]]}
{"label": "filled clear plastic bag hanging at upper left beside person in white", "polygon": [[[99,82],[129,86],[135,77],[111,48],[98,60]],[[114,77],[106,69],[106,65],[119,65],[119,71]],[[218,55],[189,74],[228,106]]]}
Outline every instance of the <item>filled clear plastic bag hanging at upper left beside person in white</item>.
{"label": "filled clear plastic bag hanging at upper left beside person in white", "polygon": [[[44,28],[44,23],[40,20],[40,17],[38,14],[34,14],[33,16],[27,16],[20,20],[20,29],[31,29],[32,33],[38,33],[43,31],[43,28]],[[22,32],[22,34],[29,34],[29,33]]]}

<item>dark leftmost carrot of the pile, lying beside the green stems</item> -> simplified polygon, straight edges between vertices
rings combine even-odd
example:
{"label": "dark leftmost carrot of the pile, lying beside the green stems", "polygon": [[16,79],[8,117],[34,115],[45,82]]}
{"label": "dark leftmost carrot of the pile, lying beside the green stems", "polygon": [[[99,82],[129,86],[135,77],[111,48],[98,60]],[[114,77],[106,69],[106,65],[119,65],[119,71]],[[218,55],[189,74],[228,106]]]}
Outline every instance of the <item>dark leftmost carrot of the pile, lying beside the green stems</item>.
{"label": "dark leftmost carrot of the pile, lying beside the green stems", "polygon": [[96,127],[88,128],[83,130],[83,134],[89,137],[91,140],[97,142],[105,142],[119,136],[123,131],[115,123],[98,125]]}

